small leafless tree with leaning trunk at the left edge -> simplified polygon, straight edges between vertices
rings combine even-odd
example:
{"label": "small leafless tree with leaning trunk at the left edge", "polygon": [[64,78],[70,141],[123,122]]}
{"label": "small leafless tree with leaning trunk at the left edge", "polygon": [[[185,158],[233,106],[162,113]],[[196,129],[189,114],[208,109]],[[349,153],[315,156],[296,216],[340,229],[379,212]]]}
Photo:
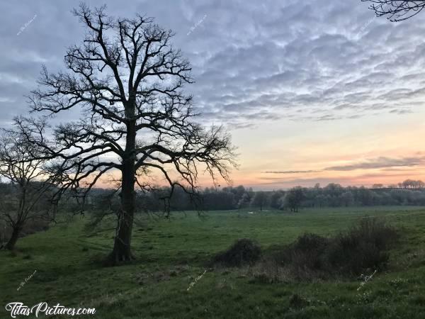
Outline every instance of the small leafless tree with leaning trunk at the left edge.
{"label": "small leafless tree with leaning trunk at the left edge", "polygon": [[23,227],[30,220],[52,220],[55,207],[50,205],[57,181],[39,147],[30,144],[15,130],[1,130],[0,177],[10,182],[11,194],[2,196],[0,220],[11,228],[6,249],[13,250]]}

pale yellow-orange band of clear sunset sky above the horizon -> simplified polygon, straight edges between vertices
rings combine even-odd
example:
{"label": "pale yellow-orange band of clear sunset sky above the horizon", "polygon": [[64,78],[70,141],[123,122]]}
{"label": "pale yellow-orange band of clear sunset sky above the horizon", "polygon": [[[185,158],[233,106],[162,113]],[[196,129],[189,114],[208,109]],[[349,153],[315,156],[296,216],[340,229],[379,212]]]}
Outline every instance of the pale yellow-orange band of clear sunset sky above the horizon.
{"label": "pale yellow-orange band of clear sunset sky above the horizon", "polygon": [[[230,174],[233,186],[273,190],[317,183],[372,186],[425,180],[425,114],[341,122],[283,120],[231,133],[239,153],[239,169]],[[119,178],[119,173],[113,176]],[[155,184],[166,185],[159,175],[152,177]],[[200,174],[198,184],[213,186],[208,174]],[[217,185],[229,184],[217,179]],[[98,186],[111,186],[108,177]]]}

